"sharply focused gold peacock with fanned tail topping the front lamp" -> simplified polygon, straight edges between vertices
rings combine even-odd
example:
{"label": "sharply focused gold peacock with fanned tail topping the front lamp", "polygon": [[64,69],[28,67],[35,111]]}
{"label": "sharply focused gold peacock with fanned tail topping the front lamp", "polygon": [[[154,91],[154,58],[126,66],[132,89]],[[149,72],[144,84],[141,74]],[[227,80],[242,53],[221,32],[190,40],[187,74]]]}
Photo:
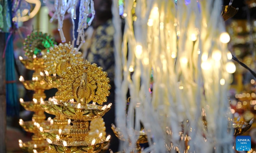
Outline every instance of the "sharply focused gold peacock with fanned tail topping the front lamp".
{"label": "sharply focused gold peacock with fanned tail topping the front lamp", "polygon": [[[108,91],[111,88],[110,84],[108,84],[110,79],[107,75],[107,72],[103,72],[102,67],[97,67],[95,63],[91,64],[86,61],[85,63],[79,62],[79,64],[74,64],[68,67],[66,72],[62,73],[58,87],[60,91],[59,96],[63,100],[74,98],[76,101],[78,101],[78,97],[80,96],[80,98],[85,99],[84,104],[93,101],[102,105],[103,102],[107,102],[107,96],[110,95]],[[82,79],[86,81],[84,82],[84,89],[79,91],[79,88],[82,87]],[[86,91],[86,94],[80,95],[80,92],[84,91]]]}

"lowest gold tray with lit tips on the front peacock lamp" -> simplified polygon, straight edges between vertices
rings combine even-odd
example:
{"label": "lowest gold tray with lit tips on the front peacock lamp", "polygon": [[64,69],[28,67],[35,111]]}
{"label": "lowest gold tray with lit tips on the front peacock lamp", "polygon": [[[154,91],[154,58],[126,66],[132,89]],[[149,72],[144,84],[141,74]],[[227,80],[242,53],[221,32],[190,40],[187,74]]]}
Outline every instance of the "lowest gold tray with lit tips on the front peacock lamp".
{"label": "lowest gold tray with lit tips on the front peacock lamp", "polygon": [[[91,145],[92,140],[95,139],[96,142],[94,145]],[[67,146],[63,145],[63,141],[67,142]],[[73,138],[67,138],[63,140],[57,140],[52,144],[48,144],[52,149],[55,149],[59,153],[98,153],[101,149],[103,149],[109,141],[105,141],[101,138],[85,138],[85,142],[89,145],[84,146],[72,146],[71,144],[75,140]]]}

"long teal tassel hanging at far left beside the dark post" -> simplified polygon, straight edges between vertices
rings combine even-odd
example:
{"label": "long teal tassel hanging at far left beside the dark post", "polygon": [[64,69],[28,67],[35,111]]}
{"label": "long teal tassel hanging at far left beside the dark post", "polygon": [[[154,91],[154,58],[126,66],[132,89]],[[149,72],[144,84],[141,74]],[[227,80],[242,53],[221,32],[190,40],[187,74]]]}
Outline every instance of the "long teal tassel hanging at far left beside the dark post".
{"label": "long teal tassel hanging at far left beside the dark post", "polygon": [[[8,39],[9,37],[9,39]],[[16,84],[14,53],[13,53],[13,35],[5,33],[7,41],[5,50],[5,79],[6,79],[6,115],[19,116],[18,91]]]}

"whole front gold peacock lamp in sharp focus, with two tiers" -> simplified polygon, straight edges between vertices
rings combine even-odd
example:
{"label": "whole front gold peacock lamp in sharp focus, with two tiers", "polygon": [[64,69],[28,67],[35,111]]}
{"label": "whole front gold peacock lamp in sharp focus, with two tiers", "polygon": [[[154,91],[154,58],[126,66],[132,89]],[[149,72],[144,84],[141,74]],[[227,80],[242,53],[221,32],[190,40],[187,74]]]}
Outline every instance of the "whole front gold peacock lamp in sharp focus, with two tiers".
{"label": "whole front gold peacock lamp in sharp focus, with two tiers", "polygon": [[[58,102],[54,107],[58,112],[69,118],[73,123],[70,128],[71,138],[63,138],[52,142],[47,139],[49,146],[60,153],[97,153],[103,149],[108,143],[110,135],[102,138],[102,134],[98,137],[88,137],[89,128],[87,121],[101,118],[110,110],[110,105],[99,106],[107,102],[108,91],[111,86],[107,78],[107,73],[102,71],[97,64],[90,62],[79,62],[66,69],[62,73],[60,85],[60,97],[67,102]],[[95,92],[96,91],[96,92]],[[76,102],[68,101],[75,99]],[[93,101],[93,104],[88,104]]]}

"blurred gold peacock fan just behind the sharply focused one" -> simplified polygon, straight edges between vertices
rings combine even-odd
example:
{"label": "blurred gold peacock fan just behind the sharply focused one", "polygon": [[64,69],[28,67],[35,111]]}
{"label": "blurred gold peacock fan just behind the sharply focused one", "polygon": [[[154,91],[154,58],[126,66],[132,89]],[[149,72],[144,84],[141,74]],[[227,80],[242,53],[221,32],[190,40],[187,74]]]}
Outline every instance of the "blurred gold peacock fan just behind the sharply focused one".
{"label": "blurred gold peacock fan just behind the sharply focused one", "polygon": [[81,52],[77,52],[76,48],[69,43],[55,45],[49,49],[44,58],[45,70],[49,74],[57,74],[61,77],[63,71],[65,71],[71,65],[83,62]]}

